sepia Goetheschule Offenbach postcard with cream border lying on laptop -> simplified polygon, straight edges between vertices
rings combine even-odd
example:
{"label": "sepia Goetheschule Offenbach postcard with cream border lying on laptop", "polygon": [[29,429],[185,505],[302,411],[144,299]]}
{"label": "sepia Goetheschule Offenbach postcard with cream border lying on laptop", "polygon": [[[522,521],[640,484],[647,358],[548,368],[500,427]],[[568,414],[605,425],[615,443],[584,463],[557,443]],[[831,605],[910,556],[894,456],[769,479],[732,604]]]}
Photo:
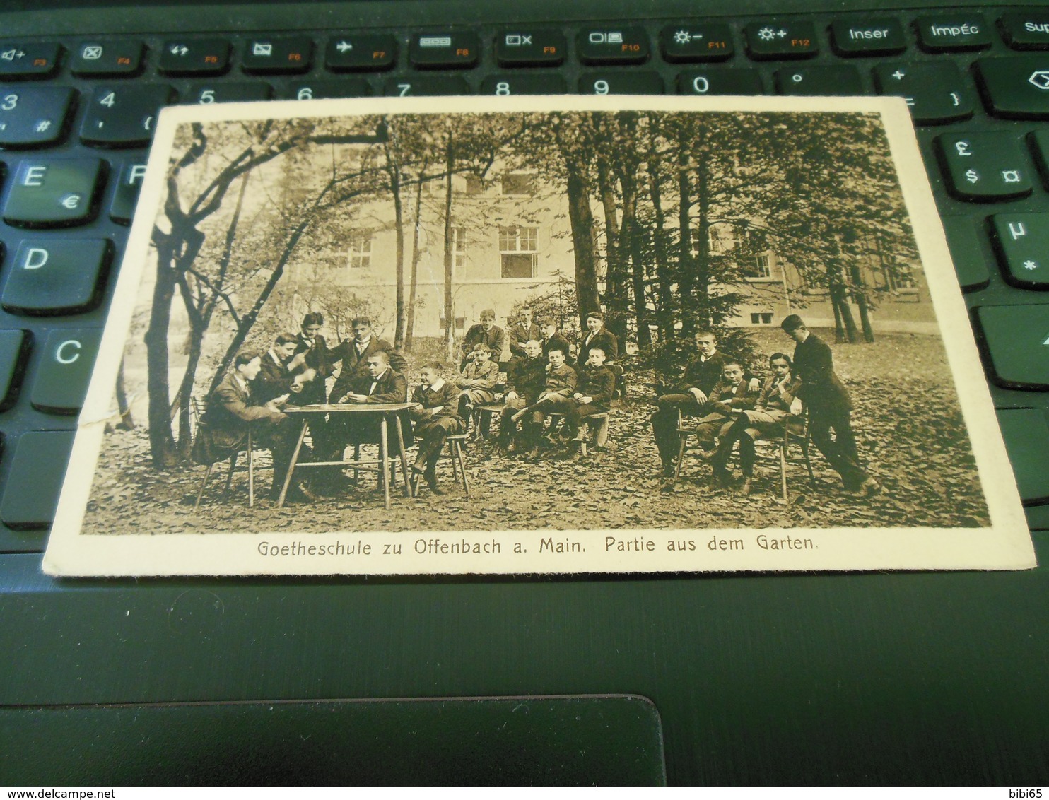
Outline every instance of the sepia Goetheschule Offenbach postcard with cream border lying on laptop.
{"label": "sepia Goetheschule Offenbach postcard with cream border lying on laptop", "polygon": [[887,98],[165,109],[44,560],[1034,565]]}

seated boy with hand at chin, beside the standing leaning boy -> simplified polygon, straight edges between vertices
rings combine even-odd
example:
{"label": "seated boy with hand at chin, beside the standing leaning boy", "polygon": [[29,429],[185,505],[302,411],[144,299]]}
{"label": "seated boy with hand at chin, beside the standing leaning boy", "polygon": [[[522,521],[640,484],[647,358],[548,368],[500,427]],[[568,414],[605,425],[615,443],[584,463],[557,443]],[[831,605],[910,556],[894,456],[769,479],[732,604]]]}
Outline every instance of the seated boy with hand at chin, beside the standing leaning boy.
{"label": "seated boy with hand at chin, beside the standing leaning boy", "polygon": [[744,495],[750,494],[750,482],[754,476],[754,442],[762,436],[782,434],[786,426],[797,419],[790,410],[796,385],[790,356],[782,352],[772,353],[769,368],[771,373],[765,379],[754,408],[742,411],[728,430],[722,432],[718,451],[711,460],[714,478],[720,484],[728,485],[732,480],[728,470],[732,446],[740,442],[740,471],[743,473],[740,493]]}

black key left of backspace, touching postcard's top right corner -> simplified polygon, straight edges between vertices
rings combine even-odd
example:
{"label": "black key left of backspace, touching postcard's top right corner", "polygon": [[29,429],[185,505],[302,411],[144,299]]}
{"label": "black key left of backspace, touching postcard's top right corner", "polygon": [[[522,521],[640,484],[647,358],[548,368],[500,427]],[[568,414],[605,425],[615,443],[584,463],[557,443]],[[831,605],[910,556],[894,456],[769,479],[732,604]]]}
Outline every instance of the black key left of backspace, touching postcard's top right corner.
{"label": "black key left of backspace, touching postcard's top right corner", "polygon": [[916,125],[941,125],[972,116],[972,95],[950,61],[879,64],[874,82],[881,94],[905,98]]}

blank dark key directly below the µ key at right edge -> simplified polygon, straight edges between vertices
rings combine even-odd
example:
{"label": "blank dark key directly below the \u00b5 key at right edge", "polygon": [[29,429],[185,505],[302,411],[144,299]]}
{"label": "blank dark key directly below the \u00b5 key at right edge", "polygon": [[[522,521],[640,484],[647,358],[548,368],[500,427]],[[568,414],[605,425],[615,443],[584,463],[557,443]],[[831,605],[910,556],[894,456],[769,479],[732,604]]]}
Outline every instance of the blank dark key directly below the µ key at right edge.
{"label": "blank dark key directly below the \u00b5 key at right edge", "polygon": [[977,309],[977,320],[996,384],[1049,389],[1049,307],[984,305]]}

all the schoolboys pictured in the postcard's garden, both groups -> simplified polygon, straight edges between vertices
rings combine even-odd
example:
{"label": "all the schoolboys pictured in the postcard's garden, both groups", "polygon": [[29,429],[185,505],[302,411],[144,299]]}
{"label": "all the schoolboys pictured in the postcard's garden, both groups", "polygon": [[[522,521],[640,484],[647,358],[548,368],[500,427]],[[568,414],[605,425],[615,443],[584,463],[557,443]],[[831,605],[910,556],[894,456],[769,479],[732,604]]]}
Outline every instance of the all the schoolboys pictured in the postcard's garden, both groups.
{"label": "all the schoolboys pictured in the postcard's garden, both groups", "polygon": [[[616,337],[604,328],[599,311],[586,316],[586,334],[574,361],[568,341],[552,319],[535,324],[531,309],[509,332],[495,324],[495,313],[486,309],[462,345],[461,371],[446,376],[445,367],[427,362],[421,368],[421,384],[411,392],[414,404],[400,415],[400,425],[388,432],[391,452],[411,447],[419,439],[412,464],[418,485],[425,479],[435,493],[435,466],[449,435],[464,433],[476,406],[495,399],[500,371],[506,372],[504,406],[497,445],[502,453],[535,454],[544,436],[555,444],[578,446],[585,434],[586,418],[608,411],[617,375]],[[229,457],[241,449],[249,427],[259,446],[274,452],[275,479],[272,496],[284,482],[298,426],[281,409],[290,405],[390,404],[409,398],[405,377],[407,362],[394,347],[379,339],[367,318],[352,321],[352,339],[328,347],[319,330],[323,319],[309,313],[300,334],[282,333],[265,353],[242,352],[229,374],[213,392],[204,426],[205,436],[194,446],[194,457],[204,463]],[[880,487],[860,466],[852,431],[849,392],[834,372],[831,348],[811,333],[797,315],[783,322],[794,340],[794,358],[776,352],[769,359],[764,383],[750,375],[744,365],[718,349],[711,331],[695,334],[697,354],[687,364],[677,388],[656,398],[651,415],[652,434],[662,462],[662,474],[672,489],[679,469],[683,417],[694,417],[690,430],[700,445],[700,457],[711,463],[719,484],[732,483],[731,454],[738,445],[742,482],[751,490],[754,442],[782,433],[785,426],[800,424],[808,409],[813,445],[841,476],[847,490],[876,494]],[[504,347],[513,353],[505,365],[498,359]],[[330,394],[325,381],[341,366]],[[804,406],[802,406],[804,403]],[[550,414],[563,416],[559,441],[545,433]],[[313,454],[301,460],[341,461],[347,445],[376,442],[377,426],[364,415],[330,414],[327,420],[312,417]],[[834,432],[832,437],[831,432]],[[338,468],[325,470],[313,483],[321,493],[338,493],[342,485]],[[292,499],[314,499],[304,483],[291,485]]]}

